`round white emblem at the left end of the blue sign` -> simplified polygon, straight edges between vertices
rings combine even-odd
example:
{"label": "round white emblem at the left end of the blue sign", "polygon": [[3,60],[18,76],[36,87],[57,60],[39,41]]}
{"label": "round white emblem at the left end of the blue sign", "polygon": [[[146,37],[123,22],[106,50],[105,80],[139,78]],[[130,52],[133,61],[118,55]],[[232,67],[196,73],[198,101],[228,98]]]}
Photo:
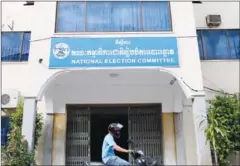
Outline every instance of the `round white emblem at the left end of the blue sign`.
{"label": "round white emblem at the left end of the blue sign", "polygon": [[69,53],[70,53],[70,48],[65,43],[58,43],[53,48],[53,55],[57,59],[64,59],[64,58],[66,58],[69,55]]}

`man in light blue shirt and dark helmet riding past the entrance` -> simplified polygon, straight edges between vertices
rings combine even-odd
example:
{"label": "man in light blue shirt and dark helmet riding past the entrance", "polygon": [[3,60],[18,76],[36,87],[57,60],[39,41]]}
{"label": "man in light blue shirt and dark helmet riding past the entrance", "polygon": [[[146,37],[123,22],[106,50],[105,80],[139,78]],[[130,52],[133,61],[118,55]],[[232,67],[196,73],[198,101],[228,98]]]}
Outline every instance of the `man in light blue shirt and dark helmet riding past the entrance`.
{"label": "man in light blue shirt and dark helmet riding past the entrance", "polygon": [[114,138],[120,138],[120,131],[123,128],[123,125],[120,123],[111,123],[108,126],[108,134],[105,136],[103,145],[102,145],[102,160],[103,163],[109,166],[112,165],[131,165],[129,162],[121,159],[116,156],[114,150],[123,153],[130,153],[131,150],[121,148],[116,144]]}

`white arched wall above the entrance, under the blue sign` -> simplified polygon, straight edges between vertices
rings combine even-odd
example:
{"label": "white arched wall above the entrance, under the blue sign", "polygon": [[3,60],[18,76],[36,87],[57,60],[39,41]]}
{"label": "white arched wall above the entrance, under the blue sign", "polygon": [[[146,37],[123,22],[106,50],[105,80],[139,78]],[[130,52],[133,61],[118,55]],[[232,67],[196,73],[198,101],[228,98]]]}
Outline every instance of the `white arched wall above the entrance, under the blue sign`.
{"label": "white arched wall above the entrance, under the blue sign", "polygon": [[[74,72],[58,78],[45,93],[47,113],[65,113],[66,104],[162,103],[163,112],[180,112],[183,92],[172,76],[152,71]],[[139,82],[140,81],[140,82]],[[181,94],[181,95],[180,95]]]}

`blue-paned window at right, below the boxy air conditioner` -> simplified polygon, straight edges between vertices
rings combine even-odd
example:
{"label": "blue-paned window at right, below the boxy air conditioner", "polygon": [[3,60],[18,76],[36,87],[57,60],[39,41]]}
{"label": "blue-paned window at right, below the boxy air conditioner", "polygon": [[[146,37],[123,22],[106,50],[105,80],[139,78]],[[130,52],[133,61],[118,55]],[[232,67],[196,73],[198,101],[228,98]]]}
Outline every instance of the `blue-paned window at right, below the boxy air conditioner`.
{"label": "blue-paned window at right, below the boxy air conditioner", "polygon": [[200,59],[240,59],[240,30],[198,30]]}

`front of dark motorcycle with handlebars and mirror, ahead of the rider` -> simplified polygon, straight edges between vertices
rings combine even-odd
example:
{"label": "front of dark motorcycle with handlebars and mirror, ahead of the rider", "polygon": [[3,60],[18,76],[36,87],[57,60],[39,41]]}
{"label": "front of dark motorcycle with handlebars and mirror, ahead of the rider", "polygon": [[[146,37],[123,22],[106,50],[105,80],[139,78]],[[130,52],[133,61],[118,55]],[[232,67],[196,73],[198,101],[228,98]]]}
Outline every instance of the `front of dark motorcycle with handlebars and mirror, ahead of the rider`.
{"label": "front of dark motorcycle with handlebars and mirror, ahead of the rider", "polygon": [[136,166],[159,166],[163,165],[160,159],[154,159],[152,157],[146,157],[142,150],[138,150],[132,140],[128,140],[128,143],[131,144],[133,150],[130,152],[131,157],[133,158],[133,165]]}

